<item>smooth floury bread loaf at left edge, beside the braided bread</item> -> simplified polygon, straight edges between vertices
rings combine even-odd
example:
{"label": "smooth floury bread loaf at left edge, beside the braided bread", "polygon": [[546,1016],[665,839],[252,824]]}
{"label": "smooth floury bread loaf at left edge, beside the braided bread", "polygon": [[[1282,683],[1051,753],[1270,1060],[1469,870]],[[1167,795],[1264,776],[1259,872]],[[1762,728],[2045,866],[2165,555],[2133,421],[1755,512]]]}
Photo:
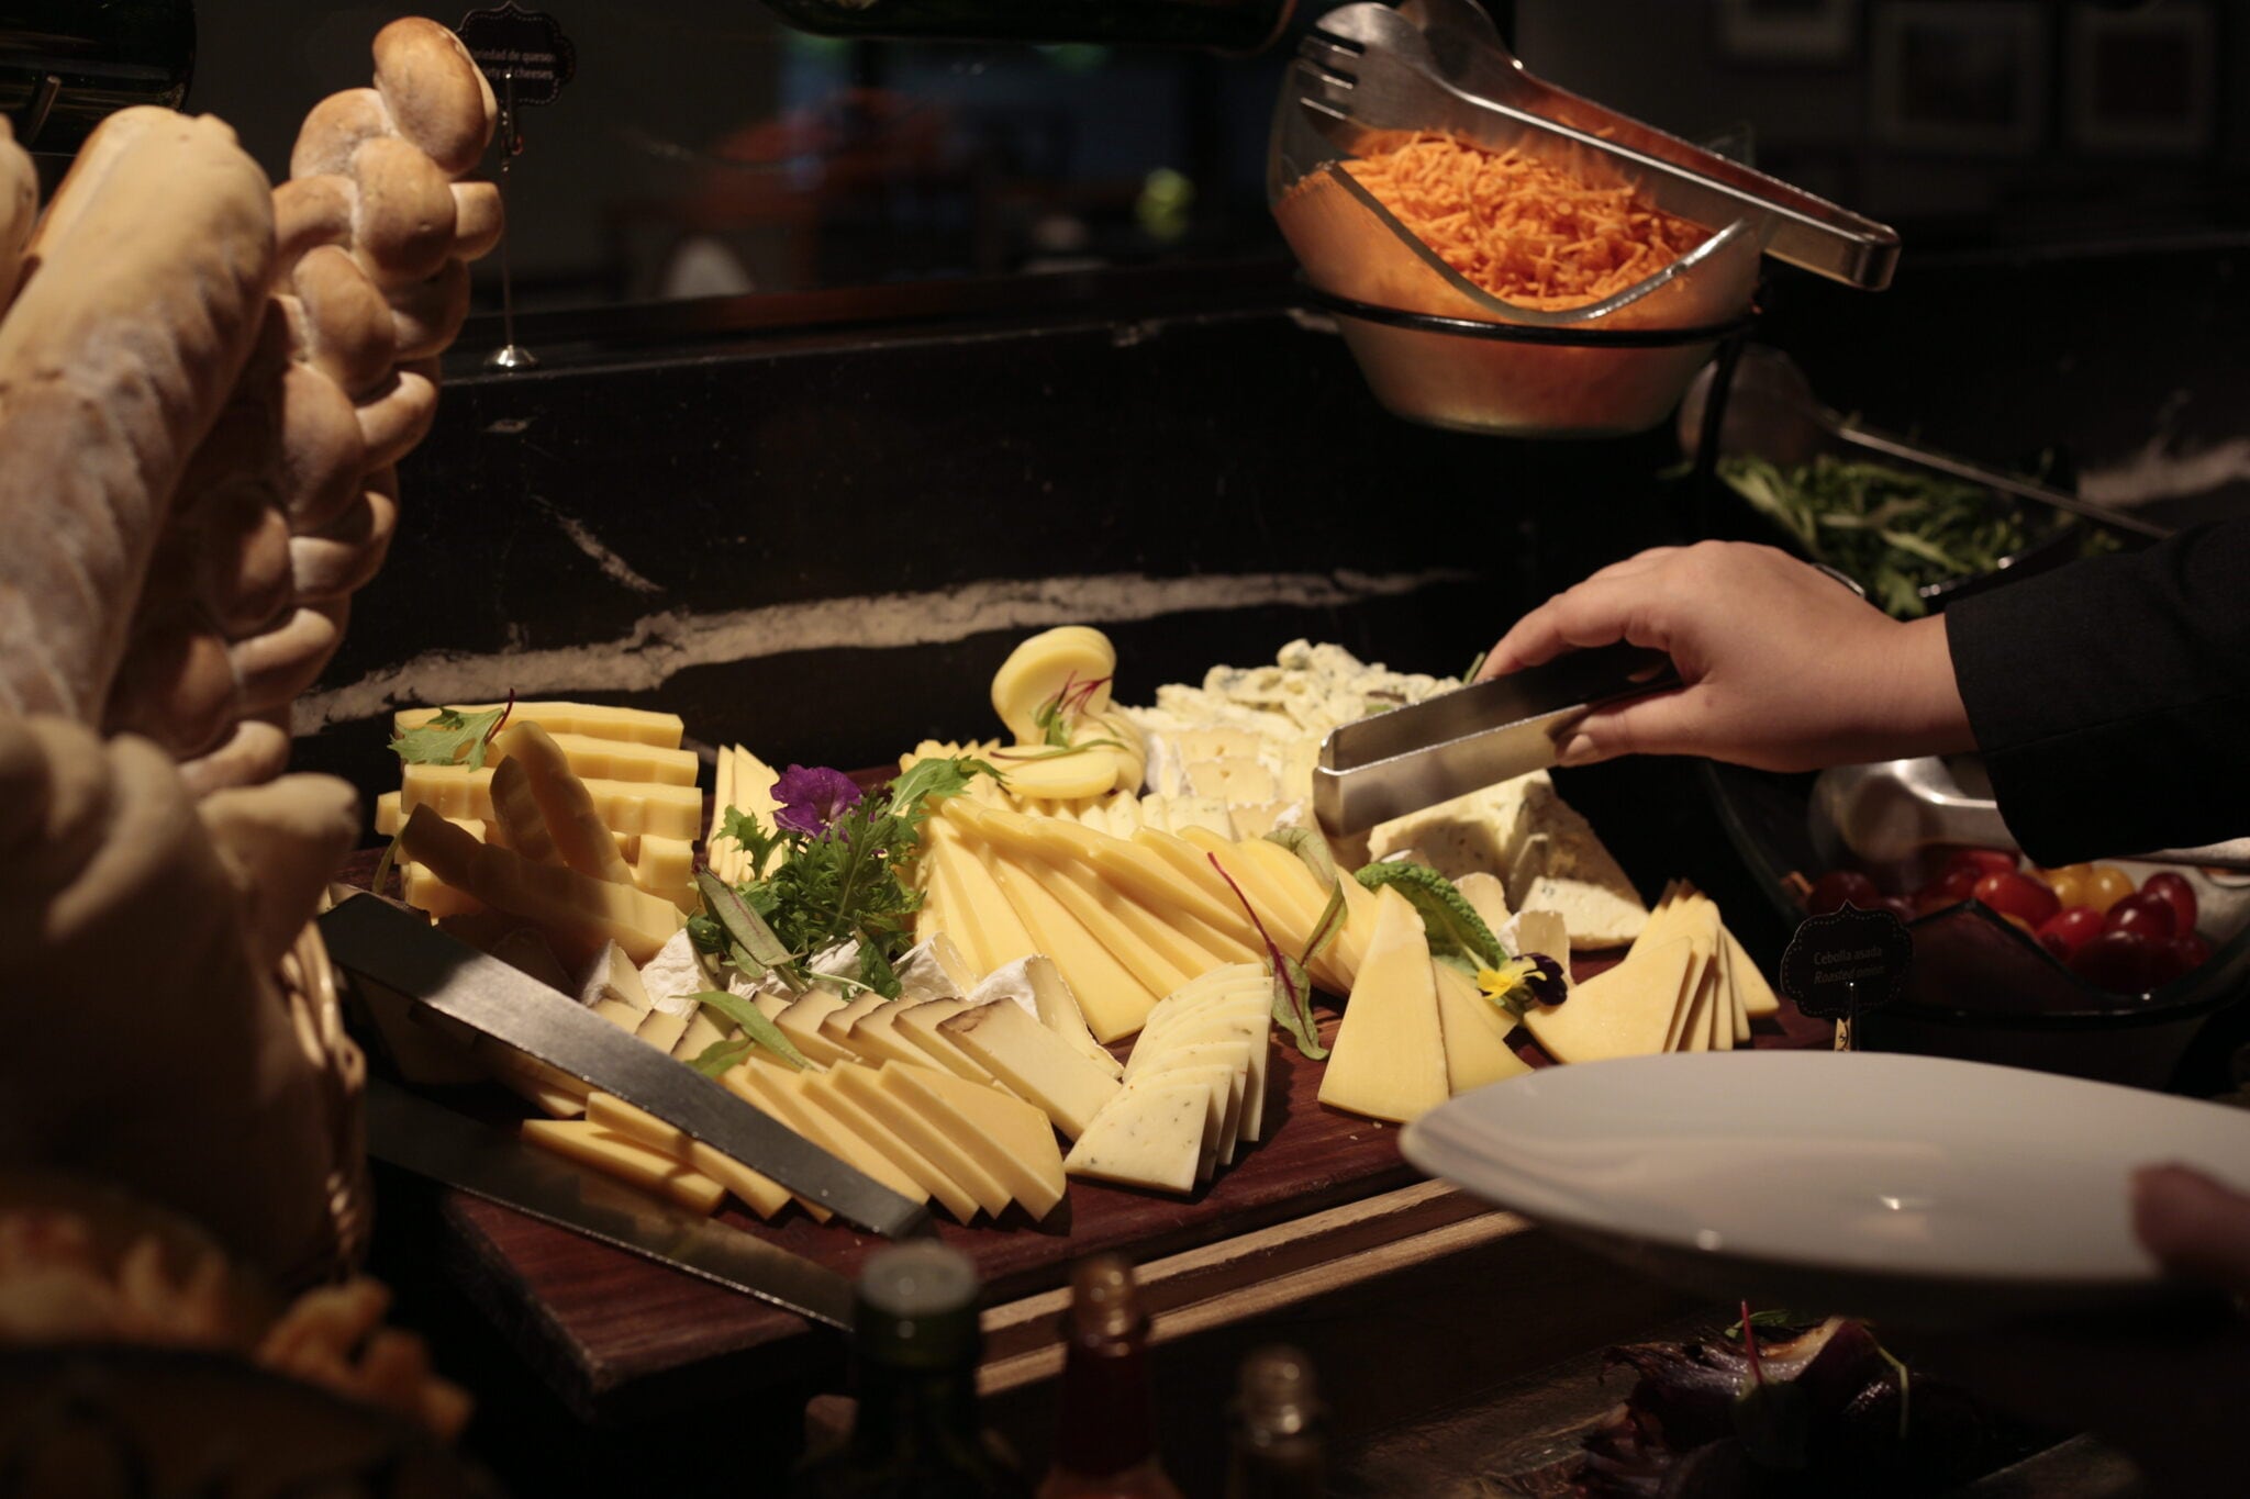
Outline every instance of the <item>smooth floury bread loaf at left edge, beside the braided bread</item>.
{"label": "smooth floury bread loaf at left edge, beside the braided bread", "polygon": [[270,274],[272,191],[227,126],[133,108],[88,137],[0,321],[0,708],[101,712]]}

